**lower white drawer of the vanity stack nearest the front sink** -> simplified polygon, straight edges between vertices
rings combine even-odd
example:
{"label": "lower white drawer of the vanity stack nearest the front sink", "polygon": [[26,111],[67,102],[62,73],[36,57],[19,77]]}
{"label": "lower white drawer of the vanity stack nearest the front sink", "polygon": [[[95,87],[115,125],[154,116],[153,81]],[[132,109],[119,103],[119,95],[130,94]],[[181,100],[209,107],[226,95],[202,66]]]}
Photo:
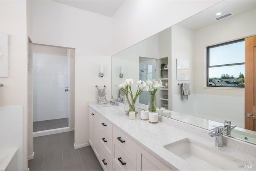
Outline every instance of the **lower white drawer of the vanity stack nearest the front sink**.
{"label": "lower white drawer of the vanity stack nearest the front sink", "polygon": [[118,143],[118,140],[113,140],[113,154],[114,169],[118,170],[137,170],[137,160],[132,157],[130,153],[122,145]]}

